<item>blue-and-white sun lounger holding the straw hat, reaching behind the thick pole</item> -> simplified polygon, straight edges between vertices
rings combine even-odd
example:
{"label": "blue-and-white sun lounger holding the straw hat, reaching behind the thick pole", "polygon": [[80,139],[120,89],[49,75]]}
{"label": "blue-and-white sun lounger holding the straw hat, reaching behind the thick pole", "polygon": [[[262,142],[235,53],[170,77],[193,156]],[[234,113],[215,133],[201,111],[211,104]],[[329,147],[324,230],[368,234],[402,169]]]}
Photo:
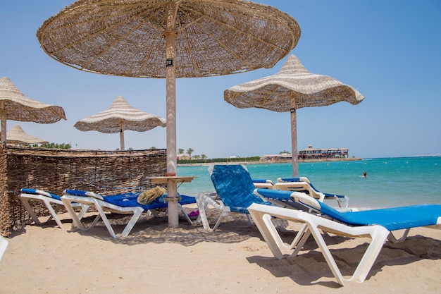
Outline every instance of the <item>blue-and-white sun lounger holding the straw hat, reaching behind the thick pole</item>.
{"label": "blue-and-white sun lounger holding the straw hat, reaching behind the thick pole", "polygon": [[[82,217],[75,214],[73,210],[73,203],[87,204],[90,206],[94,206],[99,212],[99,217],[104,221],[108,232],[111,234],[113,238],[120,238],[126,236],[132,231],[133,226],[137,223],[139,217],[145,212],[146,214],[156,214],[156,209],[166,209],[168,207],[167,202],[163,199],[166,195],[159,197],[158,199],[151,202],[151,204],[139,204],[137,202],[137,197],[139,193],[126,193],[119,195],[109,195],[102,196],[96,194],[94,192],[89,191],[81,191],[81,190],[65,190],[64,195],[61,197],[61,200],[66,206],[66,209],[72,216],[73,222],[75,226],[82,231],[86,231],[89,228],[95,226],[96,221],[89,226],[83,225],[81,219]],[[185,213],[185,210],[182,208],[184,204],[192,204],[196,203],[194,197],[180,195],[180,201],[178,202],[178,208],[184,213],[187,221],[192,223],[191,219]],[[113,212],[117,214],[133,214],[127,225],[123,229],[123,232],[120,234],[116,234],[113,230],[111,223],[108,221],[106,212]],[[98,218],[98,216],[97,216]]]}

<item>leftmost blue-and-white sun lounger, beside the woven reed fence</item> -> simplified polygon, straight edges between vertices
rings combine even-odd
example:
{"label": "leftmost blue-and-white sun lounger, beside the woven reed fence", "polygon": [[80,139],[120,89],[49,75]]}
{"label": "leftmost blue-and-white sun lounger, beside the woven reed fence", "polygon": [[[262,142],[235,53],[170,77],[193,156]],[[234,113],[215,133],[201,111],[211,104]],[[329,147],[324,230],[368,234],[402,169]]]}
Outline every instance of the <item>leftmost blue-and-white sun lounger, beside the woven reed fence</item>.
{"label": "leftmost blue-and-white sun lounger, beside the woven reed fence", "polygon": [[[35,214],[35,211],[34,211],[34,209],[32,209],[30,202],[39,201],[39,202],[44,203],[46,208],[49,210],[49,213],[51,214],[51,216],[49,216],[49,219],[44,221],[44,223],[47,223],[47,222],[51,221],[51,219],[54,219],[54,221],[56,221],[58,226],[60,228],[63,228],[63,223],[61,223],[61,220],[58,218],[54,207],[52,207],[52,204],[61,205],[62,207],[64,207],[64,204],[61,201],[61,196],[58,196],[58,195],[55,195],[55,194],[52,194],[52,193],[49,193],[49,192],[46,192],[43,190],[23,188],[23,189],[21,189],[21,193],[20,193],[20,195],[18,195],[18,197],[20,198],[21,202],[23,203],[23,206],[25,207],[27,213],[30,214],[30,216],[32,217],[32,220],[35,221],[35,223],[41,224],[42,221],[40,221],[37,214]],[[83,216],[87,212],[87,209],[89,209],[89,206],[82,205],[79,203],[73,203],[72,207],[75,207],[75,208],[81,207],[82,208],[79,213],[80,216]]]}

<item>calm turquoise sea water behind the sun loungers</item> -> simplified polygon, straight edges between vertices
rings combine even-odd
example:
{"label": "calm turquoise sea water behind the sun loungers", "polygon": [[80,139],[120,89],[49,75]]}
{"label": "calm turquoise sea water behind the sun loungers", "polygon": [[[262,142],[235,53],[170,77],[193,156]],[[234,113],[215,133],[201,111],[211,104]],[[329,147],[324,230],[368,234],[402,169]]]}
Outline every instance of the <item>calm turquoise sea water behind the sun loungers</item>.
{"label": "calm turquoise sea water behind the sun loungers", "polygon": [[[249,164],[251,178],[292,176],[291,164]],[[361,177],[363,172],[367,177]],[[178,191],[197,195],[213,191],[207,166],[178,166],[180,176],[197,176]],[[441,204],[441,157],[376,158],[361,161],[299,163],[299,175],[306,176],[321,192],[349,197],[349,206],[361,209],[410,204]]]}

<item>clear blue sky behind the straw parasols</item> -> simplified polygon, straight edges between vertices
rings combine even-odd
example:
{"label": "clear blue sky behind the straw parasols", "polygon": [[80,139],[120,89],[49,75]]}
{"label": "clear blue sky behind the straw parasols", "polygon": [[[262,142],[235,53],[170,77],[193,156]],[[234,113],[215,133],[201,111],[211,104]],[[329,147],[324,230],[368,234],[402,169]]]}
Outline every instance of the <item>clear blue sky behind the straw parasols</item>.
{"label": "clear blue sky behind the straw parasols", "polygon": [[[82,132],[82,118],[111,106],[118,95],[166,115],[166,81],[78,71],[51,59],[35,33],[73,1],[3,1],[0,76],[27,97],[62,106],[67,121],[42,125],[8,121],[30,135],[79,149],[117,149],[118,134]],[[353,106],[297,111],[298,148],[347,147],[356,157],[441,154],[441,1],[259,0],[297,20],[302,37],[291,54],[311,73],[330,75],[366,97]],[[290,114],[236,109],[223,100],[229,87],[280,70],[177,80],[178,148],[209,158],[260,156],[291,150]],[[125,132],[125,147],[166,147],[166,129]]]}

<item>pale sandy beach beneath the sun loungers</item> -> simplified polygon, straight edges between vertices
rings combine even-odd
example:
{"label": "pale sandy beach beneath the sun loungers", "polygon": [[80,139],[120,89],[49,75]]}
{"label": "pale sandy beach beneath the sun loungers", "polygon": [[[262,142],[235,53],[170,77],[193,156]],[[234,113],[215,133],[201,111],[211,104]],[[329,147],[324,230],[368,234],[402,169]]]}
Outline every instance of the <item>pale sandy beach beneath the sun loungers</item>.
{"label": "pale sandy beach beneath the sun loungers", "polygon": [[[244,216],[213,233],[149,216],[118,240],[102,223],[80,232],[70,231],[68,214],[61,219],[63,230],[51,221],[8,238],[0,293],[440,293],[441,231],[429,228],[386,243],[364,283],[341,287],[312,239],[298,257],[275,259]],[[127,220],[112,219],[116,228]],[[325,240],[343,274],[352,274],[368,239]]]}

